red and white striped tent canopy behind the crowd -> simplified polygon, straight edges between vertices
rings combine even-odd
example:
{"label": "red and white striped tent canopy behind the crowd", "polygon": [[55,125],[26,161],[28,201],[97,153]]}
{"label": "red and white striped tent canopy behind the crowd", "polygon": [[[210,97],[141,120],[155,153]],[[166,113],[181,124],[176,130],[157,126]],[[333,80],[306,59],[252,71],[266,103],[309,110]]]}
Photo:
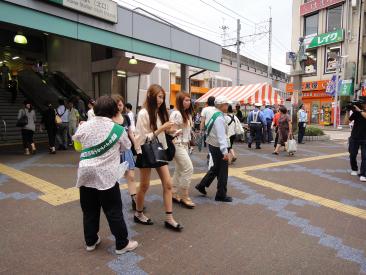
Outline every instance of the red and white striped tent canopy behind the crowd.
{"label": "red and white striped tent canopy behind the crowd", "polygon": [[275,105],[284,103],[284,100],[268,83],[213,88],[197,99],[196,103],[205,103],[210,96],[217,97],[220,95],[226,96],[232,103],[240,105],[254,103]]}

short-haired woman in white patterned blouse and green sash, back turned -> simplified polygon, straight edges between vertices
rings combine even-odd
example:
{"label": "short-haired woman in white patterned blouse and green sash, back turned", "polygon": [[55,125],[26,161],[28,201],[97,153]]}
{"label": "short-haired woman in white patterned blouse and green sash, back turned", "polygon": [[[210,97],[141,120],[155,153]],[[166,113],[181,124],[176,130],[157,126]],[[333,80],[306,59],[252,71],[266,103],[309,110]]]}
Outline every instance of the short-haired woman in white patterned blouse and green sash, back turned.
{"label": "short-haired woman in white patterned blouse and green sash, back turned", "polygon": [[95,118],[81,124],[73,140],[82,144],[76,187],[80,189],[86,250],[93,251],[100,243],[100,209],[107,217],[116,239],[117,254],[134,250],[138,243],[128,240],[122,213],[121,193],[117,180],[121,177],[120,153],[131,147],[124,128],[112,121],[121,120],[116,102],[100,97],[94,106]]}

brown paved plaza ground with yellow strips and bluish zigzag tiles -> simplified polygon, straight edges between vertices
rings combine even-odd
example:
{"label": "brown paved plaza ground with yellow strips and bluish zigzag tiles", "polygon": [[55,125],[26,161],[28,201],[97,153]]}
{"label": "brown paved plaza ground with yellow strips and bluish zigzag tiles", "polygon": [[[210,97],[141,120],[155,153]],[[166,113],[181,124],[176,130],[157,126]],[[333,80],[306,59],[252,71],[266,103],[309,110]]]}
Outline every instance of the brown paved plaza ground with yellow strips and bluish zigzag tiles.
{"label": "brown paved plaza ground with yellow strips and bluish zigzag tiles", "polygon": [[[202,197],[194,185],[207,170],[206,152],[195,152],[194,210],[174,206],[185,228],[163,227],[162,188],[153,172],[146,215],[133,222],[121,185],[124,215],[140,246],[114,254],[102,214],[102,243],[85,251],[78,190],[79,155],[24,156],[0,148],[0,273],[3,274],[364,274],[366,185],[349,174],[345,141],[307,142],[294,157],[236,144],[230,166],[232,203],[214,201],[216,181]],[[171,172],[174,165],[171,165]],[[136,179],[138,179],[138,172]]]}

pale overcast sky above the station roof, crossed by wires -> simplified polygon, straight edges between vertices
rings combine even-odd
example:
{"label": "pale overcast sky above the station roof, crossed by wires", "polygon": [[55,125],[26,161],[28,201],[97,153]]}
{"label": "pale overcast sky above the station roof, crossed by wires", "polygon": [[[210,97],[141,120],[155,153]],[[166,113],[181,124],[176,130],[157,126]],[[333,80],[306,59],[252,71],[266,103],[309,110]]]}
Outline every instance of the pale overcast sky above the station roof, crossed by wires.
{"label": "pale overcast sky above the station roof, crossed by wires", "polygon": [[[268,63],[268,33],[265,32],[269,29],[271,7],[272,67],[289,72],[285,54],[291,49],[291,0],[115,1],[129,9],[143,8],[190,33],[225,46],[235,44],[237,19],[240,19],[241,36],[244,36],[240,53],[264,64]],[[223,29],[226,29],[225,40]],[[236,46],[226,48],[236,51]]]}

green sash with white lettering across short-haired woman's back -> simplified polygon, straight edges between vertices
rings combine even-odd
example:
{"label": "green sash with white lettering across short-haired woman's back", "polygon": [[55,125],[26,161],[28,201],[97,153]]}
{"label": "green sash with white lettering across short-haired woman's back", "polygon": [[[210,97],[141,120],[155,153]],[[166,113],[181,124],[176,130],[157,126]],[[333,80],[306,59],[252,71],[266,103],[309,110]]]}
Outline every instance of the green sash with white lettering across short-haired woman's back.
{"label": "green sash with white lettering across short-haired woman's back", "polygon": [[103,155],[109,149],[112,148],[114,144],[117,143],[125,128],[118,124],[114,124],[111,132],[109,133],[107,139],[95,146],[90,148],[85,148],[81,151],[80,160],[92,159]]}

